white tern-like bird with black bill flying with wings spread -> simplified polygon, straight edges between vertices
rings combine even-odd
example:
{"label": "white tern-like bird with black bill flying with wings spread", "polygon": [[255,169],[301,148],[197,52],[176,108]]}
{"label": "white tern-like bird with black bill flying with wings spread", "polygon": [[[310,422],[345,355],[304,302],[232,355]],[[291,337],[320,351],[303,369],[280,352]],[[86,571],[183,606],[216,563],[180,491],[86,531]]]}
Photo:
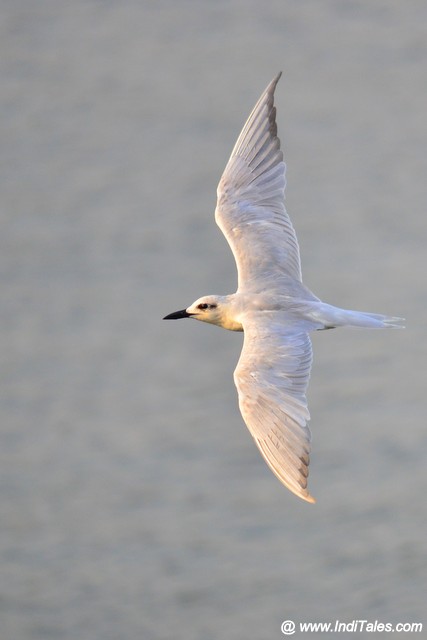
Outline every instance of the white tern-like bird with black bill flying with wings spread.
{"label": "white tern-like bird with black bill flying with wings spread", "polygon": [[315,502],[307,489],[309,332],[401,327],[403,319],[331,306],[303,285],[298,242],[284,204],[286,166],[274,107],[280,76],[256,103],[218,185],[215,220],[234,254],[237,292],[204,296],[164,319],[195,318],[244,331],[234,372],[243,419],[278,479]]}

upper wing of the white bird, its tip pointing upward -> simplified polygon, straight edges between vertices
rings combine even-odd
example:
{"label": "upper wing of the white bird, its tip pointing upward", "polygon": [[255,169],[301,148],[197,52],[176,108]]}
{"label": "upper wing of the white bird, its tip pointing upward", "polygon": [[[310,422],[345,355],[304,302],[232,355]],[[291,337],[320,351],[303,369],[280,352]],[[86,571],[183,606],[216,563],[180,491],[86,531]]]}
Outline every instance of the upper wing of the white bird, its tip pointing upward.
{"label": "upper wing of the white bird, its tip pointing upward", "polygon": [[268,85],[235,144],[218,185],[215,219],[237,264],[239,289],[278,272],[301,281],[298,241],[285,209],[286,166]]}

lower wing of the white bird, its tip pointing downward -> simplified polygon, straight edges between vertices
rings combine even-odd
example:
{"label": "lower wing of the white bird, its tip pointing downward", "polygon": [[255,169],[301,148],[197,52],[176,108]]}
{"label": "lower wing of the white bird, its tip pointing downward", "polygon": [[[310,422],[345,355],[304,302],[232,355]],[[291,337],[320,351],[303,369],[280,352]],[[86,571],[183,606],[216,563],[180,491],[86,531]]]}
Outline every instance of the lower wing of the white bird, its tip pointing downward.
{"label": "lower wing of the white bird, its tip pointing downward", "polygon": [[307,489],[311,341],[307,333],[287,330],[280,318],[260,321],[260,315],[243,323],[243,350],[234,372],[240,411],[273,473],[297,496],[315,502]]}

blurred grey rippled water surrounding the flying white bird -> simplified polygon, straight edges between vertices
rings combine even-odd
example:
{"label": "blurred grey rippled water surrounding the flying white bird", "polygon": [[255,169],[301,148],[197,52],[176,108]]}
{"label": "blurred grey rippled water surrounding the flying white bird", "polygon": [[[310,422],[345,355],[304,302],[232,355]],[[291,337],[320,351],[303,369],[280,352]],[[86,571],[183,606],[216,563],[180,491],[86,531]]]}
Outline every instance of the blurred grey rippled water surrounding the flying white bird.
{"label": "blurred grey rippled water surrounding the flying white bird", "polygon": [[[423,0],[2,1],[2,639],[427,624],[426,25]],[[161,320],[235,290],[215,190],[279,70],[306,284],[407,318],[313,336],[314,506],[241,420],[241,335]]]}

